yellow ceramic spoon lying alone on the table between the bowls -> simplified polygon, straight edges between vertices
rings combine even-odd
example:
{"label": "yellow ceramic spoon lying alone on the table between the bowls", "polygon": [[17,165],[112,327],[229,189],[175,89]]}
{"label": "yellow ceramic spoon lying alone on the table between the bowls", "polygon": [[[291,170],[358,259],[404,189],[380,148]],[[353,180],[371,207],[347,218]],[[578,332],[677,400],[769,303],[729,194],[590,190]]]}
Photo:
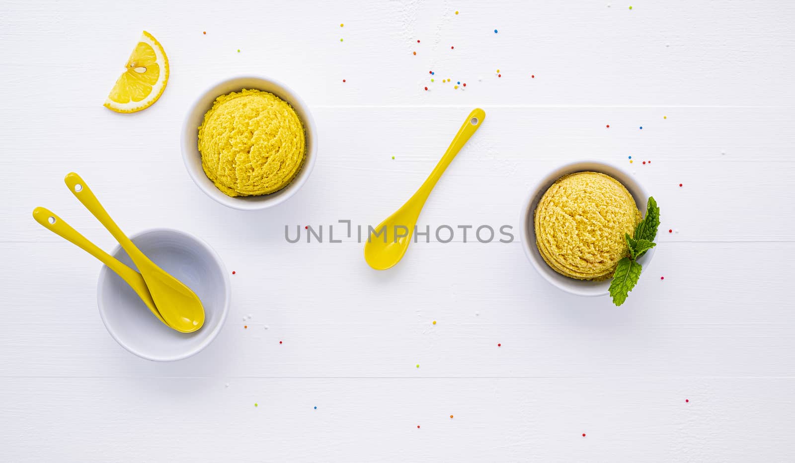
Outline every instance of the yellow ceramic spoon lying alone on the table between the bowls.
{"label": "yellow ceramic spoon lying alone on the table between the bowls", "polygon": [[381,224],[378,224],[378,227],[374,229],[374,233],[370,233],[367,237],[367,242],[364,244],[364,260],[367,261],[370,267],[375,270],[386,270],[400,262],[400,259],[403,259],[405,250],[409,248],[409,243],[411,243],[414,225],[417,224],[417,218],[425,205],[425,200],[428,199],[431,190],[436,185],[436,182],[439,181],[442,173],[444,173],[444,169],[447,169],[452,159],[467,143],[467,140],[483,124],[483,119],[486,119],[486,112],[480,108],[476,108],[469,113],[467,120],[458,130],[456,138],[453,138],[450,146],[448,146],[447,152],[444,153],[444,156],[436,164],[433,172],[420,189],[417,190],[417,193],[414,193],[411,199],[406,201],[394,214],[387,217]]}

